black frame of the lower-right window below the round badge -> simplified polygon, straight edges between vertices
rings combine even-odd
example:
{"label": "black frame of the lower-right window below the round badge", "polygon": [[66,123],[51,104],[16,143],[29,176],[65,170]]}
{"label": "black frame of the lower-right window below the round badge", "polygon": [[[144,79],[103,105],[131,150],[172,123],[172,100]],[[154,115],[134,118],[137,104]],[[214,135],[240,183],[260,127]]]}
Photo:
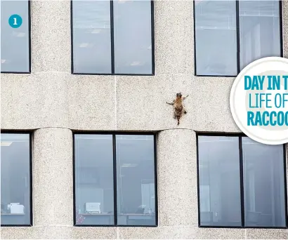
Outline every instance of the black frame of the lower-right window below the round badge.
{"label": "black frame of the lower-right window below the round badge", "polygon": [[[207,226],[201,225],[200,220],[200,196],[199,196],[199,136],[221,136],[221,137],[238,137],[239,138],[239,156],[240,156],[240,197],[241,197],[241,226]],[[287,152],[286,147],[288,145],[283,144],[283,161],[284,161],[284,208],[285,208],[285,227],[249,227],[244,225],[244,171],[243,171],[243,156],[242,156],[242,138],[248,137],[244,133],[205,133],[205,132],[197,132],[196,133],[196,147],[197,147],[197,210],[198,210],[198,227],[202,228],[240,228],[240,229],[287,229],[288,228],[288,212],[287,212]],[[249,138],[249,137],[248,137]]]}

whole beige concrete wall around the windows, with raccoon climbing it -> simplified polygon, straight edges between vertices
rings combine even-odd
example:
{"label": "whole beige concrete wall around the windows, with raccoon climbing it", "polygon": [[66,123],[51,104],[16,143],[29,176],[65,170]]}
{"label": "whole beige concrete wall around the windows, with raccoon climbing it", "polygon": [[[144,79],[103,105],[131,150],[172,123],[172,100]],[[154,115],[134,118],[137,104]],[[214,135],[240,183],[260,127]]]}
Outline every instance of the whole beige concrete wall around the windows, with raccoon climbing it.
{"label": "whole beige concrete wall around the windows, with raccoon climbing it", "polygon": [[[32,1],[32,74],[1,74],[1,129],[35,130],[34,226],[1,227],[1,238],[288,239],[287,229],[197,227],[195,131],[240,129],[229,108],[234,79],[194,76],[192,8],[155,1],[155,76],[81,76],[70,73],[70,1]],[[288,1],[283,11],[288,57]],[[179,91],[190,96],[177,126],[165,102]],[[73,227],[74,130],[158,132],[159,227]]]}

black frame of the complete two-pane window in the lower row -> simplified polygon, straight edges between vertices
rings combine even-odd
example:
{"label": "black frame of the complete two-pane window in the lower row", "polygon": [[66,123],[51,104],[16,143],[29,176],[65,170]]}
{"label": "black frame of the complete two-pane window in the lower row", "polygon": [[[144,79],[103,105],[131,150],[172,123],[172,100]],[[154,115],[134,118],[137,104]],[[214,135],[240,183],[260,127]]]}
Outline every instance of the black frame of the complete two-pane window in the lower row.
{"label": "black frame of the complete two-pane window in the lower row", "polygon": [[[76,157],[75,135],[112,135],[113,147],[113,193],[114,193],[114,224],[112,225],[77,225],[76,224]],[[157,183],[157,134],[151,132],[101,132],[101,131],[73,131],[73,226],[74,227],[158,227],[158,183]],[[117,225],[117,159],[116,135],[152,135],[154,138],[154,175],[155,175],[155,225]]]}

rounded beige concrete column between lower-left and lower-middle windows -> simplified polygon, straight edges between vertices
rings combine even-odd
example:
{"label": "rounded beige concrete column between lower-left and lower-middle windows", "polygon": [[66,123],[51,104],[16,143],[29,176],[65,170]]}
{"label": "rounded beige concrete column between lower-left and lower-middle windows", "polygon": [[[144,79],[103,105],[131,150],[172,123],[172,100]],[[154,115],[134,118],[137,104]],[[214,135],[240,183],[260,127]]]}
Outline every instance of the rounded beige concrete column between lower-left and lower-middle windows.
{"label": "rounded beige concrete column between lower-left and lower-middle windows", "polygon": [[72,226],[72,131],[42,128],[33,142],[33,225]]}

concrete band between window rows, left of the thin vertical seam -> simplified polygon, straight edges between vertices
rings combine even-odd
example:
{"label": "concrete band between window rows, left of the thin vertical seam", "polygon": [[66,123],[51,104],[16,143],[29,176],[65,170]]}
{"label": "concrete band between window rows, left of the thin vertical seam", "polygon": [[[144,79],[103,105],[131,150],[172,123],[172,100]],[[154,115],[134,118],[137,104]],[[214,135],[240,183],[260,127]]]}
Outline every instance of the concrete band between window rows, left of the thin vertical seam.
{"label": "concrete band between window rows, left of the thin vertical seam", "polygon": [[1,74],[1,128],[115,128],[114,76]]}

